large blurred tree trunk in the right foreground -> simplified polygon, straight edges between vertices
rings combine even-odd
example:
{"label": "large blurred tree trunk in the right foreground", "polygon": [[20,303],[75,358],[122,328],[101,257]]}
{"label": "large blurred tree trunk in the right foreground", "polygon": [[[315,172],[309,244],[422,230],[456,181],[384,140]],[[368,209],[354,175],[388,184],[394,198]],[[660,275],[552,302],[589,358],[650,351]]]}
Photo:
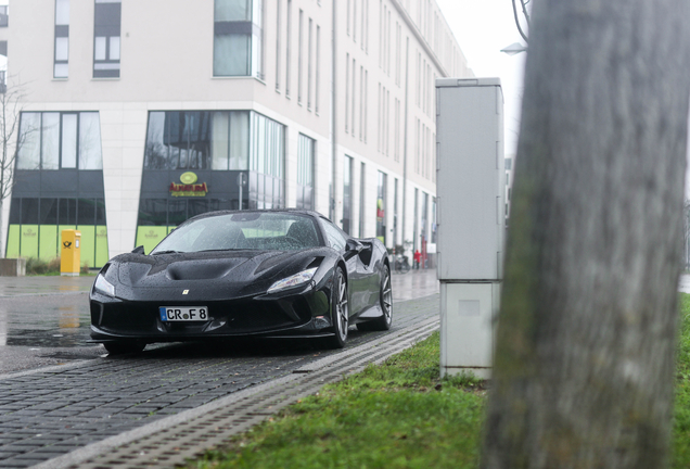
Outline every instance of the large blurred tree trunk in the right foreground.
{"label": "large blurred tree trunk in the right foreground", "polygon": [[535,4],[483,468],[668,464],[689,10]]}

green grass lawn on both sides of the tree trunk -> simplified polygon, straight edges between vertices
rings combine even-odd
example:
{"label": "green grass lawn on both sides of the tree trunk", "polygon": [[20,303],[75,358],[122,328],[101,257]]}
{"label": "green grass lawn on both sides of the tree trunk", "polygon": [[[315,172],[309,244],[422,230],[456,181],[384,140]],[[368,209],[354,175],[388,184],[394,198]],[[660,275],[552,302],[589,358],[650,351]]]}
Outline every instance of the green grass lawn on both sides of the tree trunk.
{"label": "green grass lawn on both sides of the tree trunk", "polygon": [[[674,468],[690,467],[690,295],[681,294]],[[190,468],[476,468],[486,392],[438,379],[438,333],[237,436]]]}

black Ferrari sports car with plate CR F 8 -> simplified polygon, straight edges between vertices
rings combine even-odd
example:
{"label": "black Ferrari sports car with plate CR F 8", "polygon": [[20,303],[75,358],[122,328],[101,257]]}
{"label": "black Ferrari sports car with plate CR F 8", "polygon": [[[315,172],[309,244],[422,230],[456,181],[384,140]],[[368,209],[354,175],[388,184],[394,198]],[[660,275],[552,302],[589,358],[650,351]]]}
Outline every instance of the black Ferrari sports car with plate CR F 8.
{"label": "black Ferrari sports car with plate CR F 8", "polygon": [[111,353],[212,338],[320,338],[387,330],[391,267],[375,238],[355,239],[315,212],[212,212],[151,251],[113,257],[89,296],[91,342]]}

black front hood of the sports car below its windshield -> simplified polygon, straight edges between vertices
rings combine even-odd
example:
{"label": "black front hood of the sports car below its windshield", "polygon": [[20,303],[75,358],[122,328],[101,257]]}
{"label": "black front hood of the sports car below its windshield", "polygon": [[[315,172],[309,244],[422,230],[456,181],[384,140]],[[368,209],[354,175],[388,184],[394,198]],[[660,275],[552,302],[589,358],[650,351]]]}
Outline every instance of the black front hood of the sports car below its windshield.
{"label": "black front hood of the sports car below its windshield", "polygon": [[120,297],[169,296],[177,290],[189,290],[186,300],[241,297],[265,293],[273,282],[317,264],[324,250],[124,254],[112,261],[116,268],[106,276],[115,280],[116,275],[124,287]]}

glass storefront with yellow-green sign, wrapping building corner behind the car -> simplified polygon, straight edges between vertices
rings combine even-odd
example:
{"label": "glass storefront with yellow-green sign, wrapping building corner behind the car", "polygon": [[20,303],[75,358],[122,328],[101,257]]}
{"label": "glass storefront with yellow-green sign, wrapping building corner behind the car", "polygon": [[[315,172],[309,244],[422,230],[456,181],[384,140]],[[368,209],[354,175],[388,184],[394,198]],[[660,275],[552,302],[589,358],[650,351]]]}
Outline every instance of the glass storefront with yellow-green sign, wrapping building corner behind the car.
{"label": "glass storefront with yellow-green sign, wrapping building corner behind the car", "polygon": [[285,205],[284,126],[251,111],[149,113],[136,245],[195,215]]}

